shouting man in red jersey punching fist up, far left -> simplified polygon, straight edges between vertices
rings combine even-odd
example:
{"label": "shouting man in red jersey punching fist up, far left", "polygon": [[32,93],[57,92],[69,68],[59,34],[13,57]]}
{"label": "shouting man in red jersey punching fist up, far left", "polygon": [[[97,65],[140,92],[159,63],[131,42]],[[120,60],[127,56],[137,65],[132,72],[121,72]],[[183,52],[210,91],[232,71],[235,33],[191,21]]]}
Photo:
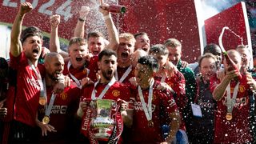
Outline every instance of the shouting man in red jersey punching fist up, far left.
{"label": "shouting man in red jersey punching fist up, far left", "polygon": [[13,116],[11,115],[14,121],[10,128],[10,143],[34,142],[39,96],[43,92],[42,77],[38,69],[38,58],[42,52],[42,35],[26,33],[20,41],[22,20],[32,8],[29,2],[21,4],[11,30],[10,67],[17,71],[17,88],[16,93],[8,95],[6,99],[6,106],[9,106],[7,109],[14,111]]}

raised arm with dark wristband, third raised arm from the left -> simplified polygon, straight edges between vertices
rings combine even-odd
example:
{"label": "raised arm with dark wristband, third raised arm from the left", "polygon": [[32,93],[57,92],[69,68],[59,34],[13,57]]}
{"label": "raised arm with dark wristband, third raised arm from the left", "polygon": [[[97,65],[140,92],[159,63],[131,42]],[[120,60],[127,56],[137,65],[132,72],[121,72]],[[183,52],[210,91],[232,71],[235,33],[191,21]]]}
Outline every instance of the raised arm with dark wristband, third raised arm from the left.
{"label": "raised arm with dark wristband, third raised arm from the left", "polygon": [[79,11],[79,18],[77,25],[74,28],[74,37],[84,38],[86,17],[89,14],[90,8],[88,6],[82,6]]}

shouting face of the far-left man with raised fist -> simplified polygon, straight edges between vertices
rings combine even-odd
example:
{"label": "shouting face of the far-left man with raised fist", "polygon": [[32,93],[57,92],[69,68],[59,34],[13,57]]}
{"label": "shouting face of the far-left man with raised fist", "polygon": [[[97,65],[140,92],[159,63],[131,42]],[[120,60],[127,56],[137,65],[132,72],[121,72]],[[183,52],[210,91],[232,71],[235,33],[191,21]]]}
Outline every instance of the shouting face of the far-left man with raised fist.
{"label": "shouting face of the far-left man with raised fist", "polygon": [[26,58],[29,58],[31,62],[35,62],[42,53],[42,39],[38,36],[30,36],[26,38],[22,44]]}

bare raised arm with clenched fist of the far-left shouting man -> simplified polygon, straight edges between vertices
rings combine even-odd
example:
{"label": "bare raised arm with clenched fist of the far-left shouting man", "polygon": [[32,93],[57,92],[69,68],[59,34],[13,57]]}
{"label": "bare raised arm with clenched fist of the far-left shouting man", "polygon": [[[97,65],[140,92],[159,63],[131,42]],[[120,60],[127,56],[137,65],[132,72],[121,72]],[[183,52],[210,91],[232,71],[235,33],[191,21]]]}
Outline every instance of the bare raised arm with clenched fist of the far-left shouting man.
{"label": "bare raised arm with clenched fist of the far-left shouting man", "polygon": [[33,7],[30,2],[22,3],[14,20],[14,25],[10,33],[10,54],[12,54],[14,57],[18,57],[20,54],[22,54],[22,42],[20,41],[22,33],[22,21],[25,14],[30,12],[32,8]]}

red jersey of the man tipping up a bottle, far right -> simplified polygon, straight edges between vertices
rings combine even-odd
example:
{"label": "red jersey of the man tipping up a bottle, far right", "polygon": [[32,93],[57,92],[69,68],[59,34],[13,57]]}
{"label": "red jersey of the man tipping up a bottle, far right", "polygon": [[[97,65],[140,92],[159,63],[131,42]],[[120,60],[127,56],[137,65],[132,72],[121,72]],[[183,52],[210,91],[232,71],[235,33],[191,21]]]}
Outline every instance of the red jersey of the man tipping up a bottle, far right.
{"label": "red jersey of the man tipping up a bottle, far right", "polygon": [[[210,79],[210,90],[218,86],[217,77]],[[237,83],[230,82],[230,95],[233,97],[234,86]],[[226,120],[227,106],[226,94],[218,101],[218,110],[215,114],[215,138],[214,143],[247,143],[252,142],[250,133],[250,86],[247,84],[246,75],[242,75],[242,80],[238,86],[238,95],[232,110],[233,118]]]}

